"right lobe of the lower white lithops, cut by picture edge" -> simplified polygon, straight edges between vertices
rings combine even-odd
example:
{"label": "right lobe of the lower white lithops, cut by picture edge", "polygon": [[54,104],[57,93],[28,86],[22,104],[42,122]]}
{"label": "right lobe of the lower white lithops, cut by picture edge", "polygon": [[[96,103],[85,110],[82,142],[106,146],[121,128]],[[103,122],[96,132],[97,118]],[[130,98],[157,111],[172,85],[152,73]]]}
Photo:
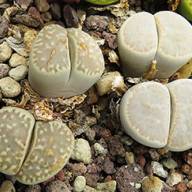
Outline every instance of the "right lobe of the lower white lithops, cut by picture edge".
{"label": "right lobe of the lower white lithops, cut by picture edge", "polygon": [[192,147],[192,80],[176,80],[167,85],[172,103],[168,148],[184,151]]}

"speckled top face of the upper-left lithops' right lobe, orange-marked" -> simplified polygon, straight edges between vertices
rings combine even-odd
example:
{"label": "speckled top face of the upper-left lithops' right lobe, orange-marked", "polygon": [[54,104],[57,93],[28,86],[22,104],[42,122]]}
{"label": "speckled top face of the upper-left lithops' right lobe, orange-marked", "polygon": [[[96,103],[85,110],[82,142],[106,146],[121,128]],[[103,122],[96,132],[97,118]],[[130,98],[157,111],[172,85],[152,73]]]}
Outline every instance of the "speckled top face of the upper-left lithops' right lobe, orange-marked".
{"label": "speckled top face of the upper-left lithops' right lobe, orange-marked", "polygon": [[[81,73],[87,76],[101,74],[104,70],[102,52],[87,33],[78,29],[68,29],[69,47],[71,53],[71,73]],[[71,76],[71,78],[74,78]]]}

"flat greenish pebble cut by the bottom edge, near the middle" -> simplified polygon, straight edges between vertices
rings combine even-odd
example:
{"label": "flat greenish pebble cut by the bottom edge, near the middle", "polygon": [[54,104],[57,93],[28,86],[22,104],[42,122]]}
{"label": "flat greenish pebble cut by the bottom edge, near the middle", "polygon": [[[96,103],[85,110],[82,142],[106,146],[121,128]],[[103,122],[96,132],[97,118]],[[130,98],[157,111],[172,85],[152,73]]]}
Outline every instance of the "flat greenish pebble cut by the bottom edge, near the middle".
{"label": "flat greenish pebble cut by the bottom edge, near the middle", "polygon": [[106,192],[115,192],[116,191],[116,181],[108,181],[105,183],[97,183],[96,189],[98,191],[106,191]]}

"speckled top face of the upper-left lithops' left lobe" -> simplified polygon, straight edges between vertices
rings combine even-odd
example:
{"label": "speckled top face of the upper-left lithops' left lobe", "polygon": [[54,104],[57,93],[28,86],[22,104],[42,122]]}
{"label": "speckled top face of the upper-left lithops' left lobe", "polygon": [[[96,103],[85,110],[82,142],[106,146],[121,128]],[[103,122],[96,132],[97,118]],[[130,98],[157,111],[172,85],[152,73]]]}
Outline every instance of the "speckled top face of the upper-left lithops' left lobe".
{"label": "speckled top face of the upper-left lithops' left lobe", "polygon": [[70,70],[67,31],[59,25],[44,27],[35,39],[30,54],[33,66],[44,72]]}

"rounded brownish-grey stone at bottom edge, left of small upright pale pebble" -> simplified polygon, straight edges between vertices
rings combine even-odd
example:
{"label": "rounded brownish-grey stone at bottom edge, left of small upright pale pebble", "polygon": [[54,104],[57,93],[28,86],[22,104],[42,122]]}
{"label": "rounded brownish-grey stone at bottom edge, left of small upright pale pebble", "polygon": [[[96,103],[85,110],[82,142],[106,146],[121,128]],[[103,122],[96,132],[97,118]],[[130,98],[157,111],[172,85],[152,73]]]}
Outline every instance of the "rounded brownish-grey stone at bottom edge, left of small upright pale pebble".
{"label": "rounded brownish-grey stone at bottom edge, left of small upright pale pebble", "polygon": [[70,192],[70,190],[64,182],[57,180],[50,182],[46,186],[45,192]]}

